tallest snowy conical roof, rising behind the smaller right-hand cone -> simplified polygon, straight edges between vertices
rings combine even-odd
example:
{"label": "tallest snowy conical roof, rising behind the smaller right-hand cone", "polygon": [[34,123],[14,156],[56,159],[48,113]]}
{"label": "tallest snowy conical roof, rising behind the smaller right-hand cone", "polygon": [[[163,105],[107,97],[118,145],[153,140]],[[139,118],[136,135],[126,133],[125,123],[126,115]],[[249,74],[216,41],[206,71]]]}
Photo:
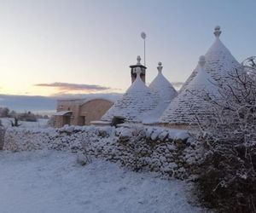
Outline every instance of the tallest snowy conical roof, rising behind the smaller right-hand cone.
{"label": "tallest snowy conical roof, rising behind the smaller right-hand cone", "polygon": [[[213,34],[215,35],[215,41],[212,43],[210,49],[208,49],[206,57],[206,71],[212,76],[217,82],[220,78],[228,78],[229,73],[234,71],[236,68],[241,67],[241,64],[235,59],[235,57],[230,53],[230,50],[224,46],[221,42],[219,36],[221,34],[220,27],[216,26]],[[186,89],[189,82],[195,78],[198,72],[198,66],[191,73],[187,81],[183,84],[182,89]]]}

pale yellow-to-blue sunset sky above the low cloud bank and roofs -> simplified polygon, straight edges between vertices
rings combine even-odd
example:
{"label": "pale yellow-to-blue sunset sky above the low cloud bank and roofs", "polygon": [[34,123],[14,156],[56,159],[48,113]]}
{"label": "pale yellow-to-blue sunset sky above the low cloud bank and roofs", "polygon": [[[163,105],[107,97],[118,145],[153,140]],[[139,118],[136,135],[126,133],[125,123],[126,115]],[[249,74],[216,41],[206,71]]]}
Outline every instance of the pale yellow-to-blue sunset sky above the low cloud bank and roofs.
{"label": "pale yellow-to-blue sunset sky above the low cloud bank and roofs", "polygon": [[184,82],[215,26],[238,61],[256,55],[256,1],[0,0],[0,94],[122,93],[143,58]]}

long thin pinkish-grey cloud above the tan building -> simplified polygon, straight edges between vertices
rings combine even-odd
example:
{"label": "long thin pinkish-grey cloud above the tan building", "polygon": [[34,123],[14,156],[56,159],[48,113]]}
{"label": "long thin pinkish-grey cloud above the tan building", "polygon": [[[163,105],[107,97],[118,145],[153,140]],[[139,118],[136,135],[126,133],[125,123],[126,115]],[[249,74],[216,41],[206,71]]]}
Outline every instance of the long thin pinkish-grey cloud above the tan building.
{"label": "long thin pinkish-grey cloud above the tan building", "polygon": [[104,87],[100,85],[91,84],[79,84],[79,83],[37,83],[34,86],[38,87],[52,87],[58,89],[60,93],[70,92],[70,91],[86,91],[86,92],[96,92],[111,89],[110,87]]}

